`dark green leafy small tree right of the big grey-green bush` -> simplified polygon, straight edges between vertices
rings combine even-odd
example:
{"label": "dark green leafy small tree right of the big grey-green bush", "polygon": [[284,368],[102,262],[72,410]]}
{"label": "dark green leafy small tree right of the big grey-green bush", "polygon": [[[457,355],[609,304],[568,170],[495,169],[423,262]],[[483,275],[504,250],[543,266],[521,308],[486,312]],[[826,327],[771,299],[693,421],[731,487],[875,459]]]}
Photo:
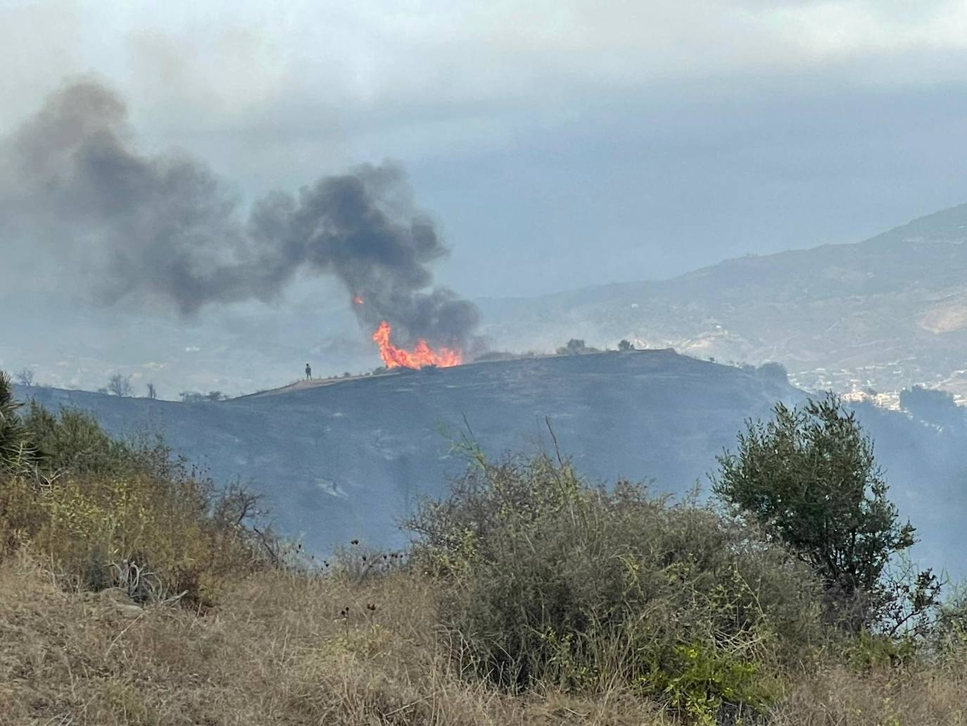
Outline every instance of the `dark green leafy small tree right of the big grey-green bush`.
{"label": "dark green leafy small tree right of the big grey-green bush", "polygon": [[[855,412],[832,394],[802,408],[778,404],[771,421],[749,421],[738,451],[718,463],[718,497],[812,567],[847,630],[859,632],[895,609],[883,575],[891,558],[914,544],[914,528],[900,523],[887,498]],[[929,572],[921,579],[917,592],[928,594],[935,580]]]}

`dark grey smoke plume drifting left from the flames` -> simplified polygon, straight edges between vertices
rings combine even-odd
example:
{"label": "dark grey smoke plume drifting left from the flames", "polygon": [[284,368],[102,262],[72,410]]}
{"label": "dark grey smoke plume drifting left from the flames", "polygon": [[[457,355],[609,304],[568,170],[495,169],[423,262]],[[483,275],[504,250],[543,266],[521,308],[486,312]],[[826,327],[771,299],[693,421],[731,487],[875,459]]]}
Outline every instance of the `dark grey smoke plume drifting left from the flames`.
{"label": "dark grey smoke plume drifting left from the flames", "polygon": [[[79,267],[106,304],[137,299],[190,315],[206,305],[278,296],[297,273],[332,274],[367,329],[403,342],[466,346],[479,313],[430,265],[445,257],[395,165],[326,176],[297,195],[251,205],[183,153],[139,153],[124,102],[92,79],[65,85],[0,143],[5,244],[44,245]],[[397,336],[395,335],[395,339]]]}

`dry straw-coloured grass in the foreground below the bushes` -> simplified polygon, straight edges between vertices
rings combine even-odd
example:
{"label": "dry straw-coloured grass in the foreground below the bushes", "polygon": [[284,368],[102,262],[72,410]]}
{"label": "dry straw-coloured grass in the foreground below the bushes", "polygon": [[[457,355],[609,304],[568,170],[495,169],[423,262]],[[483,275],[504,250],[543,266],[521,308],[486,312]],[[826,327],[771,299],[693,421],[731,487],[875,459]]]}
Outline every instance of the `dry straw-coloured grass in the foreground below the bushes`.
{"label": "dry straw-coloured grass in the foreground below the bushes", "polygon": [[0,724],[671,722],[619,694],[514,699],[461,681],[436,648],[430,590],[406,575],[354,587],[260,573],[222,603],[204,616],[140,610],[8,560]]}

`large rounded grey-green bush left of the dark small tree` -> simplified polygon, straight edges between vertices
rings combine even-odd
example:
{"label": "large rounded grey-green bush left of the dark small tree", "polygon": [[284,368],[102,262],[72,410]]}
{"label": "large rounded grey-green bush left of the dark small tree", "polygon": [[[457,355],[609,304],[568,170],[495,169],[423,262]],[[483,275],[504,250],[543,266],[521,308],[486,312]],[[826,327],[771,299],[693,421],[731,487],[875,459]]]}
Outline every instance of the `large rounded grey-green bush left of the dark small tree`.
{"label": "large rounded grey-green bush left of the dark small tree", "polygon": [[545,456],[478,457],[406,525],[461,672],[514,691],[624,684],[712,723],[766,708],[823,638],[808,568],[756,531]]}

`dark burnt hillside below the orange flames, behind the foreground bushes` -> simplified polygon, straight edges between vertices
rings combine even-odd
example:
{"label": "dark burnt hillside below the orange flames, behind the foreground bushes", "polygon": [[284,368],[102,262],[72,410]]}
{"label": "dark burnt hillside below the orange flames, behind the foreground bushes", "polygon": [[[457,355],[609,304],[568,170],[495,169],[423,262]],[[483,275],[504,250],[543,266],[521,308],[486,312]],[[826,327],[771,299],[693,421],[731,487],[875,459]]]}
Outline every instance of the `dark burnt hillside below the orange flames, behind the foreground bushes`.
{"label": "dark burnt hillside below the orange flames, behind the foreground bushes", "polygon": [[[183,404],[33,387],[44,405],[93,411],[117,434],[161,433],[220,482],[261,492],[278,529],[326,552],[351,538],[397,546],[399,517],[446,492],[478,442],[491,456],[553,443],[588,476],[654,479],[683,494],[705,485],[747,417],[805,395],[762,373],[670,350],[552,356],[296,386],[219,403]],[[956,566],[967,544],[967,434],[861,407],[864,426],[921,554]],[[454,450],[456,449],[456,450]]]}

